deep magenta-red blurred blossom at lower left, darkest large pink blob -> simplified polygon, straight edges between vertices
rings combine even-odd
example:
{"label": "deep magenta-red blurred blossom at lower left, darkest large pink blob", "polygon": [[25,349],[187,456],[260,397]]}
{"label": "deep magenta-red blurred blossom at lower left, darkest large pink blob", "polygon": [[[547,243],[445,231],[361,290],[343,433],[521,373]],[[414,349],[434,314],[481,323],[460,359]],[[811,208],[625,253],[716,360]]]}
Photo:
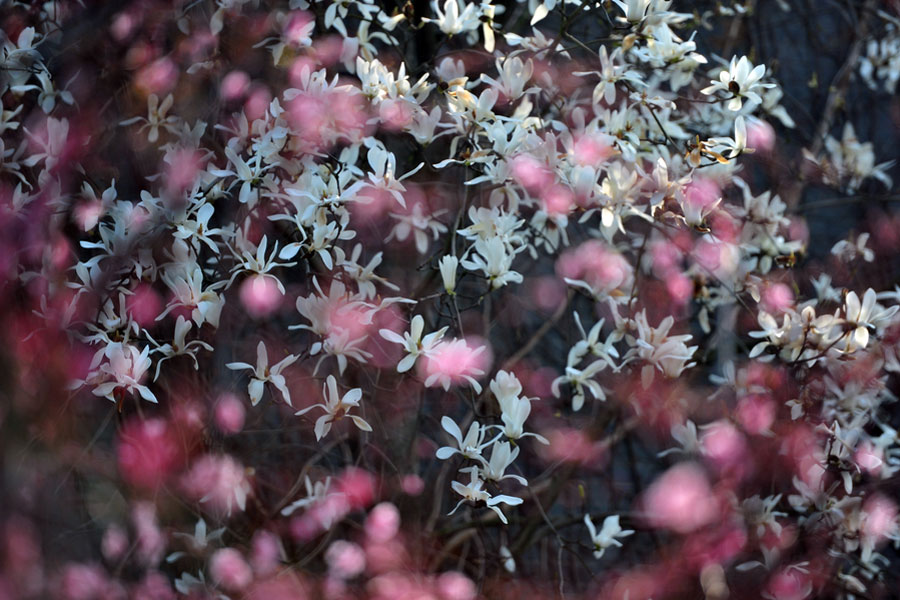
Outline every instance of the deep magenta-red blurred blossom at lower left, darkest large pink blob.
{"label": "deep magenta-red blurred blossom at lower left, darkest large pink blob", "polygon": [[181,465],[181,445],[164,419],[134,419],[119,435],[119,473],[133,486],[156,489]]}

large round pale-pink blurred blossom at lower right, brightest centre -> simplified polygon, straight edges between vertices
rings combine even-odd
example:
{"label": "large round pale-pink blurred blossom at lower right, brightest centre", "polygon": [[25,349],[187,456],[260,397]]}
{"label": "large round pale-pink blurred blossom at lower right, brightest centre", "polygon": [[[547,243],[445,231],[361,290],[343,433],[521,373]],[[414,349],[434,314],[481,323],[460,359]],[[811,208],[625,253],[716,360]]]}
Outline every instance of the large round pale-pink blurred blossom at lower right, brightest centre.
{"label": "large round pale-pink blurred blossom at lower right, brightest centre", "polygon": [[653,527],[690,533],[718,513],[703,470],[694,463],[675,465],[659,477],[644,497],[646,519]]}

